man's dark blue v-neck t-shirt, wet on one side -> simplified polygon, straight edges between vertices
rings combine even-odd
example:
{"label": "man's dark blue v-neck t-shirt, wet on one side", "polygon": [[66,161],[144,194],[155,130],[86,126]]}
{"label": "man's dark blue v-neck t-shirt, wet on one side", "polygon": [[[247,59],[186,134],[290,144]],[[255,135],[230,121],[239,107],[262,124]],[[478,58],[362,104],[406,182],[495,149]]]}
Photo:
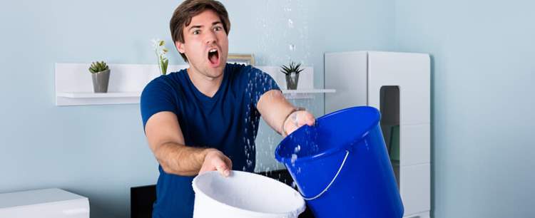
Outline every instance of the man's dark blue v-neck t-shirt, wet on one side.
{"label": "man's dark blue v-neck t-shirt, wet on one side", "polygon": [[[253,172],[255,137],[260,113],[256,104],[277,83],[258,68],[227,64],[223,81],[212,98],[195,88],[186,70],[160,76],[141,94],[143,128],[161,111],[175,113],[185,145],[213,147],[233,161],[233,170]],[[193,217],[193,177],[165,173],[159,166],[154,218]]]}

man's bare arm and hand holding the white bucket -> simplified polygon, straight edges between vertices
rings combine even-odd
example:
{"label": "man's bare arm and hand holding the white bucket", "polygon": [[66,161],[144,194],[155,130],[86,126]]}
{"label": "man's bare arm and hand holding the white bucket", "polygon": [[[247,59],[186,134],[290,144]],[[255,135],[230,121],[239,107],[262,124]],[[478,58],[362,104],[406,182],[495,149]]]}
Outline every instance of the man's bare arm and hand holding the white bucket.
{"label": "man's bare arm and hand holding the white bucket", "polygon": [[152,115],[145,125],[145,133],[156,160],[167,173],[193,176],[218,170],[225,176],[230,174],[232,162],[219,150],[185,146],[174,113],[163,111]]}

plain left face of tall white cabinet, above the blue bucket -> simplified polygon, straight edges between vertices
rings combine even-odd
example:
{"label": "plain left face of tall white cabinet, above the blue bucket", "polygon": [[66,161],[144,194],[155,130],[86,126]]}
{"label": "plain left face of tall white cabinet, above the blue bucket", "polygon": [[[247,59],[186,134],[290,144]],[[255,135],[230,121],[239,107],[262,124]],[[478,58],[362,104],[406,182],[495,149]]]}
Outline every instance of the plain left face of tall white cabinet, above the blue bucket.
{"label": "plain left face of tall white cabinet, above the blue bucket", "polygon": [[325,113],[367,105],[367,52],[325,53]]}

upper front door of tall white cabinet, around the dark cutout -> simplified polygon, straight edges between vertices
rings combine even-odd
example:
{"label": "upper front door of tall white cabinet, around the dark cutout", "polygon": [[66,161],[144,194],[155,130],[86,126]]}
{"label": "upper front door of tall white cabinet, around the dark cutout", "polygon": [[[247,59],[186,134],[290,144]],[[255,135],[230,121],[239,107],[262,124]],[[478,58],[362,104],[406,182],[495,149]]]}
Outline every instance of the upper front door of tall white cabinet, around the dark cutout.
{"label": "upper front door of tall white cabinet, around the dark cutout", "polygon": [[368,53],[368,103],[379,108],[383,86],[399,87],[399,124],[431,122],[430,62],[424,53]]}

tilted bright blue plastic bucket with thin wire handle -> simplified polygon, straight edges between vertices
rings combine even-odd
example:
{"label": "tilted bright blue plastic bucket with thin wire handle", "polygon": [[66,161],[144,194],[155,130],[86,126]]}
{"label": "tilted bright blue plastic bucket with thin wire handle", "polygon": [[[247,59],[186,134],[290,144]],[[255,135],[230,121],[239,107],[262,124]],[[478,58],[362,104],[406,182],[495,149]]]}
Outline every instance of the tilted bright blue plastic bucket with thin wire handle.
{"label": "tilted bright blue plastic bucket with thin wire handle", "polygon": [[339,110],[275,149],[316,218],[403,216],[380,117],[372,107]]}

